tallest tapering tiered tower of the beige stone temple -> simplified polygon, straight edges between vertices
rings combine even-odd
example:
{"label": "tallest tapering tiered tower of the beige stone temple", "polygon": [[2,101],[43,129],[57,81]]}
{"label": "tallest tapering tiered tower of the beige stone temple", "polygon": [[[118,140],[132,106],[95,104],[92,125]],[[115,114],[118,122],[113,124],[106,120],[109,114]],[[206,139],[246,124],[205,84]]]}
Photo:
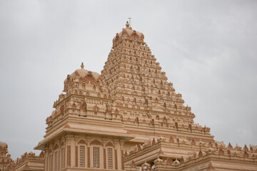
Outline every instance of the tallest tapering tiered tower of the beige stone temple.
{"label": "tallest tapering tiered tower of the beige stone temple", "polygon": [[180,93],[168,83],[166,73],[144,42],[143,33],[127,22],[116,33],[113,48],[101,71],[104,90],[110,93],[121,122],[135,136],[126,150],[149,138],[185,138],[213,142],[210,128],[193,122],[195,115],[184,106]]}

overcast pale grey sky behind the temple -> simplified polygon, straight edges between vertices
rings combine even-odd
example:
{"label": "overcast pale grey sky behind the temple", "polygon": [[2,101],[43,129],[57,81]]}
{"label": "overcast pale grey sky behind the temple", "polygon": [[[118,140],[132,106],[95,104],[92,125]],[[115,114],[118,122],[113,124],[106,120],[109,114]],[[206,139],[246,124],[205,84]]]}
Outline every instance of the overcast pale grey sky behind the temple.
{"label": "overcast pale grey sky behind the temple", "polygon": [[215,140],[257,145],[257,1],[0,0],[0,141],[11,157],[43,139],[67,74],[81,61],[101,72],[129,17],[195,122]]}

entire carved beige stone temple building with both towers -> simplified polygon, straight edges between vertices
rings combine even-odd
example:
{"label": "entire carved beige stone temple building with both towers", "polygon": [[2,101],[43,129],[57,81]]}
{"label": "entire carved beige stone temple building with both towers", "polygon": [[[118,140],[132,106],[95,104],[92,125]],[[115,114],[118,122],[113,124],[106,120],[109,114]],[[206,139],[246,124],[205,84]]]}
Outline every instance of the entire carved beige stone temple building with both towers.
{"label": "entire carved beige stone temple building with both towers", "polygon": [[213,140],[183,103],[143,33],[127,23],[101,74],[82,63],[67,76],[35,147],[41,155],[4,170],[257,170],[256,146]]}

